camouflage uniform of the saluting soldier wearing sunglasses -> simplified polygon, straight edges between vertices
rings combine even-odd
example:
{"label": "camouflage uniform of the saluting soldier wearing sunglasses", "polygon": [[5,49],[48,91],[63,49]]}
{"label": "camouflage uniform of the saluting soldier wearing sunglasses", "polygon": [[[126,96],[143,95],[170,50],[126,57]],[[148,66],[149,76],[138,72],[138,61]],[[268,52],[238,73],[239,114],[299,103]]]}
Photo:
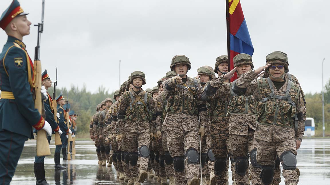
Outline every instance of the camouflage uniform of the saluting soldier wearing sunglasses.
{"label": "camouflage uniform of the saluting soldier wearing sunglasses", "polygon": [[[261,165],[262,169],[266,167],[274,168],[276,153],[280,156],[280,160],[284,155],[297,154],[296,140],[302,141],[305,130],[303,113],[306,109],[299,85],[289,81],[287,78],[285,78],[285,83],[279,91],[273,88],[274,95],[285,96],[287,87],[289,86],[288,84],[292,83],[288,95],[291,97],[293,103],[287,99],[278,98],[263,101],[263,98],[268,97],[272,93],[270,85],[272,87],[275,86],[273,82],[271,84],[269,83],[268,78],[254,80],[256,76],[254,71],[251,70],[237,80],[236,86],[247,88],[245,94],[254,95],[257,102],[256,120],[258,125],[255,131],[257,162]],[[296,114],[300,116],[297,119],[298,121],[296,121],[297,125],[294,126],[293,117]],[[275,115],[278,115],[276,120],[274,120]],[[283,165],[282,161],[281,163]],[[289,167],[289,169],[284,169],[283,166],[282,172],[285,178],[285,184],[298,183],[298,175],[295,168],[295,165],[294,167]]]}

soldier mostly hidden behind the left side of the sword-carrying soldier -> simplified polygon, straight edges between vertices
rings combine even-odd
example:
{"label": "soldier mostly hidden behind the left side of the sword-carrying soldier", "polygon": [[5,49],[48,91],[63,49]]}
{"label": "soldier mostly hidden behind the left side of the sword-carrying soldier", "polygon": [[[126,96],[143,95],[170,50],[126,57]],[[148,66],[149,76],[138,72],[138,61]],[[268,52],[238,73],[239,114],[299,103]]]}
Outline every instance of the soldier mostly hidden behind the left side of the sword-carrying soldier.
{"label": "soldier mostly hidden behind the left side of the sword-carrying soldier", "polygon": [[164,93],[164,88],[163,88],[163,79],[165,78],[172,78],[176,76],[176,73],[174,71],[169,71],[166,73],[166,76],[162,79],[160,79],[158,83],[158,88],[160,93],[155,99],[155,105],[156,105],[156,137],[157,140],[161,143],[161,146],[163,147],[163,150],[165,152],[164,154],[164,162],[165,162],[165,172],[166,176],[170,179],[170,185],[175,185],[175,179],[173,176],[174,173],[174,167],[173,167],[173,158],[170,155],[170,152],[168,151],[167,147],[167,134],[165,128],[162,126],[165,116],[166,116],[166,104],[167,104],[167,99],[166,95]]}

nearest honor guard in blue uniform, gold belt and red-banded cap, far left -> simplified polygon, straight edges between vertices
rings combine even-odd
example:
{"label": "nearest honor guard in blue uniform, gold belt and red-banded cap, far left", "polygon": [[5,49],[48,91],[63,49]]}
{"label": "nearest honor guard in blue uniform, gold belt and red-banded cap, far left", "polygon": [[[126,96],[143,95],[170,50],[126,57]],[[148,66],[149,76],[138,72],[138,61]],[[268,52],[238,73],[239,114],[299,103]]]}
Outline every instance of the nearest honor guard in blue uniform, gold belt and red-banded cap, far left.
{"label": "nearest honor guard in blue uniform, gold belt and red-banded cap, far left", "polygon": [[[0,54],[0,181],[5,185],[12,180],[25,141],[33,138],[32,126],[46,130],[49,136],[52,130],[34,108],[35,74],[22,42],[30,34],[27,14],[14,0],[0,17],[0,27],[8,35]],[[45,89],[42,94],[47,98]]]}

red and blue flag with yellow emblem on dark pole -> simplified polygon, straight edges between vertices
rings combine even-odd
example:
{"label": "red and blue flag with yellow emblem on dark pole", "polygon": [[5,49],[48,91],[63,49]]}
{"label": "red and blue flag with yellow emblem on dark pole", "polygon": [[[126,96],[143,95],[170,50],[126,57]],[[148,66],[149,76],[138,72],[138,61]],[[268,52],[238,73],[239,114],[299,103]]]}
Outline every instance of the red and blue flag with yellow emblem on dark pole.
{"label": "red and blue flag with yellow emblem on dark pole", "polygon": [[[227,34],[229,34],[228,41],[230,43],[230,69],[233,69],[233,58],[236,55],[246,53],[252,56],[254,49],[240,0],[226,1],[228,1],[227,21],[229,21],[229,26],[227,25]],[[230,81],[235,79],[237,79],[237,74]]]}

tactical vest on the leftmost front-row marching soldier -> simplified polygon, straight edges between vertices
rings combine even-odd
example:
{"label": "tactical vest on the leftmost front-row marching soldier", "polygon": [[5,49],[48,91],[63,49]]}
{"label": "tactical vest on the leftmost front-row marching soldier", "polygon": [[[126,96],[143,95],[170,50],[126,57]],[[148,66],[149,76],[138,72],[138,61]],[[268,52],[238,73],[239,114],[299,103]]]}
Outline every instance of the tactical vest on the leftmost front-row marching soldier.
{"label": "tactical vest on the leftmost front-row marching soldier", "polygon": [[148,105],[147,105],[147,98],[148,98],[148,93],[144,92],[143,96],[138,100],[135,101],[136,98],[134,97],[133,94],[130,91],[126,92],[127,94],[127,99],[129,99],[129,106],[127,107],[126,115],[125,115],[125,120],[130,120],[130,121],[147,121],[152,118],[152,113],[149,111]]}

